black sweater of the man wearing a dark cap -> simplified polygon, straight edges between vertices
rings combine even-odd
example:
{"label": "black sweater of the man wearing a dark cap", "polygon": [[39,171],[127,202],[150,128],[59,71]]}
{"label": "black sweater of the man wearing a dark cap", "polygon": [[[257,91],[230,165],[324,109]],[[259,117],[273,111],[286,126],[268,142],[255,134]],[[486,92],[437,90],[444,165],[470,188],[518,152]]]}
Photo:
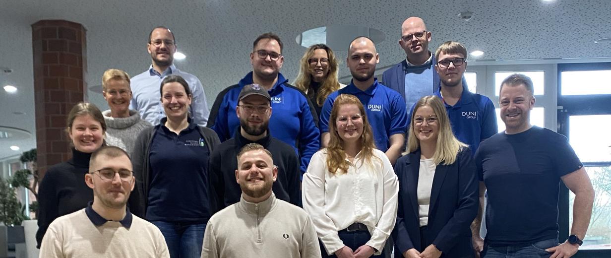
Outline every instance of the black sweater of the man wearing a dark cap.
{"label": "black sweater of the man wearing a dark cap", "polygon": [[235,130],[233,138],[223,142],[210,156],[208,175],[210,175],[210,210],[216,213],[223,208],[240,201],[242,190],[235,180],[235,170],[238,168],[236,156],[240,149],[249,143],[261,144],[271,152],[274,165],[278,167],[278,176],[272,186],[277,199],[290,202],[301,207],[301,190],[299,176],[299,158],[293,147],[279,139],[269,136],[258,141],[250,141]]}

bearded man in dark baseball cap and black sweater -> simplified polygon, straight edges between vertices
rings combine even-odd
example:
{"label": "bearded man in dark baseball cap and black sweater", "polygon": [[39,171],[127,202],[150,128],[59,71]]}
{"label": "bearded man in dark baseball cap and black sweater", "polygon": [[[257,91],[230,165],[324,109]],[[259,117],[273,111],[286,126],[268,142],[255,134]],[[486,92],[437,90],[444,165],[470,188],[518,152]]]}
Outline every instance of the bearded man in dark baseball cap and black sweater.
{"label": "bearded man in dark baseball cap and black sweater", "polygon": [[236,155],[246,144],[256,143],[272,154],[278,170],[273,191],[280,200],[301,205],[299,190],[299,158],[288,144],[269,135],[268,125],[272,108],[268,91],[258,84],[248,84],[238,96],[235,112],[240,119],[240,128],[233,138],[223,142],[210,155],[208,175],[210,180],[211,213],[240,201],[240,185],[235,182],[238,169]]}

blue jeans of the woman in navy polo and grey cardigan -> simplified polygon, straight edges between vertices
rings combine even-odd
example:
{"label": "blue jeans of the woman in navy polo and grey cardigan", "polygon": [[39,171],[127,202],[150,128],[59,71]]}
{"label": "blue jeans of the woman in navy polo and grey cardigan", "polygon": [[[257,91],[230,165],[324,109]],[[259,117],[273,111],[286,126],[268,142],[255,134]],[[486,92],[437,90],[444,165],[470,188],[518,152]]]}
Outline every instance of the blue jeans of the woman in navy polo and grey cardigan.
{"label": "blue jeans of the woman in navy polo and grey cardigan", "polygon": [[206,224],[151,221],[166,238],[171,258],[200,258]]}

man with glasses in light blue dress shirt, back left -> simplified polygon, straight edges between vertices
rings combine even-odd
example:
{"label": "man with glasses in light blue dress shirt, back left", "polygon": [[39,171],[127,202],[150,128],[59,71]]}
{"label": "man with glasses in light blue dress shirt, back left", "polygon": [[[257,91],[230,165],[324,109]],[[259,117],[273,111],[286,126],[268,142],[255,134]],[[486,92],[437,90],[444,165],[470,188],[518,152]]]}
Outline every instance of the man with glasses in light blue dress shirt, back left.
{"label": "man with glasses in light blue dress shirt, back left", "polygon": [[159,101],[159,86],[168,75],[180,75],[185,78],[192,92],[189,113],[194,123],[202,127],[208,122],[208,102],[200,80],[176,68],[174,53],[177,45],[174,32],[165,27],[157,27],[148,35],[147,51],[151,55],[152,64],[144,73],[131,78],[133,97],[130,109],[140,112],[142,119],[153,125],[166,116]]}

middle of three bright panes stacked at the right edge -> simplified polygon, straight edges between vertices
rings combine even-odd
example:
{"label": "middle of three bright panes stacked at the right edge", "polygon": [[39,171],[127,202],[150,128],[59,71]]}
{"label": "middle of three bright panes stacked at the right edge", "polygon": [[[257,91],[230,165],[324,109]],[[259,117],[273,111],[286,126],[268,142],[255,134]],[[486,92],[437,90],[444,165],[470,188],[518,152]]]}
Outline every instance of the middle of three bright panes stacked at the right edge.
{"label": "middle of three bright panes stacked at the right edge", "polygon": [[569,142],[581,162],[611,162],[611,115],[569,117]]}

